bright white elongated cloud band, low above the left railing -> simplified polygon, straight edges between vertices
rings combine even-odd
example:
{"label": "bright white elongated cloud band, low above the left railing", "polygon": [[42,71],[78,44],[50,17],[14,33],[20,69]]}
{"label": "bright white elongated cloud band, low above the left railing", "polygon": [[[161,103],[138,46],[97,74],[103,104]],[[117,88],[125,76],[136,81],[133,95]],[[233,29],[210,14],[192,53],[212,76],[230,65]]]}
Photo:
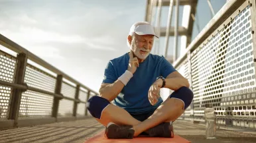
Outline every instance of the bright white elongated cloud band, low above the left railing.
{"label": "bright white elongated cloud band, low above the left railing", "polygon": [[15,32],[12,30],[2,30],[3,35],[11,38],[11,40],[25,45],[25,43],[63,43],[63,44],[81,44],[87,45],[84,48],[88,49],[101,49],[113,51],[113,47],[108,46],[114,43],[114,40],[108,36],[99,38],[85,38],[79,35],[71,34],[58,34],[56,32],[48,32],[38,28],[31,28],[27,26],[21,26],[19,31]]}

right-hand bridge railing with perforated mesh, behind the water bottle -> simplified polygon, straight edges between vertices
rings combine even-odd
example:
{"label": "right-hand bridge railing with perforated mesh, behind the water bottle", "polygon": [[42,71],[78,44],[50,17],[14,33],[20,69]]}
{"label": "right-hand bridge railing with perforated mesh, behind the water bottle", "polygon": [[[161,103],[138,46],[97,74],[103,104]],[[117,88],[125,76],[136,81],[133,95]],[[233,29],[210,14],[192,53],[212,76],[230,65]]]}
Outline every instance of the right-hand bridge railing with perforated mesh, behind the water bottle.
{"label": "right-hand bridge railing with perforated mesh, behind the water bottle", "polygon": [[174,62],[194,92],[181,119],[204,121],[212,103],[219,125],[256,129],[255,5],[227,1]]}

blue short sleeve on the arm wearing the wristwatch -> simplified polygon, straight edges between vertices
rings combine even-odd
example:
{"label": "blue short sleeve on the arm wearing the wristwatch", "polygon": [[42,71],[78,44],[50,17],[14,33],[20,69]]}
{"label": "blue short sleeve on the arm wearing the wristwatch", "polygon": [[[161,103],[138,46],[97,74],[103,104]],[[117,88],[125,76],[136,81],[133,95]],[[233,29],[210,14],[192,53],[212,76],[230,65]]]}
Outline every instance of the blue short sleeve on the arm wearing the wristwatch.
{"label": "blue short sleeve on the arm wearing the wristwatch", "polygon": [[170,62],[168,62],[164,57],[161,60],[160,63],[160,74],[166,78],[170,73],[176,71],[176,69],[174,69],[174,67],[172,66],[172,64],[170,64]]}

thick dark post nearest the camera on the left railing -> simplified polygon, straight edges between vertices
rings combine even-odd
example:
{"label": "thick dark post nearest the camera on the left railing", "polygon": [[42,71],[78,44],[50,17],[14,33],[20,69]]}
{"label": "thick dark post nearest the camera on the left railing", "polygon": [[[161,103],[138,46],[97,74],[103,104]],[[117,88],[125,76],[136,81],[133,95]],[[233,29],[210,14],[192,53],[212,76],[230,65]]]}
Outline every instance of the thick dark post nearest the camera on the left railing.
{"label": "thick dark post nearest the camera on the left railing", "polygon": [[[25,71],[27,67],[27,55],[25,53],[19,53],[17,55],[17,67],[15,69],[14,83],[15,84],[24,84],[25,79]],[[21,104],[21,95],[25,92],[25,90],[19,90],[16,88],[12,88],[11,90],[11,98],[10,98],[10,106],[8,110],[7,119],[15,120],[14,127],[17,127],[17,120],[19,117],[19,107]]]}

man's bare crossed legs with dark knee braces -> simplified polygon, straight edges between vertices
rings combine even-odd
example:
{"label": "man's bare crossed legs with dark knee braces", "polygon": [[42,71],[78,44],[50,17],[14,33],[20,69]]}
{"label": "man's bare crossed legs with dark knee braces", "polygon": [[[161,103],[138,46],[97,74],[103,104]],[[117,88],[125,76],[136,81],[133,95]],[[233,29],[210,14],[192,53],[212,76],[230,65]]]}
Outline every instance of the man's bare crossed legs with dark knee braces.
{"label": "man's bare crossed legs with dark knee braces", "polygon": [[[175,121],[184,109],[190,105],[193,99],[193,93],[189,88],[182,87],[173,92],[166,101],[164,101],[148,119],[141,122],[133,118],[125,109],[117,107],[109,103],[105,98],[94,96],[88,100],[88,110],[96,117],[102,125],[107,127],[108,123],[117,125],[133,125],[135,130],[134,136],[138,136],[141,132],[151,129],[163,122]],[[97,104],[102,103],[101,108]],[[105,105],[104,105],[105,104]],[[104,107],[105,106],[105,107]],[[97,108],[97,110],[95,110]]]}

